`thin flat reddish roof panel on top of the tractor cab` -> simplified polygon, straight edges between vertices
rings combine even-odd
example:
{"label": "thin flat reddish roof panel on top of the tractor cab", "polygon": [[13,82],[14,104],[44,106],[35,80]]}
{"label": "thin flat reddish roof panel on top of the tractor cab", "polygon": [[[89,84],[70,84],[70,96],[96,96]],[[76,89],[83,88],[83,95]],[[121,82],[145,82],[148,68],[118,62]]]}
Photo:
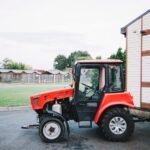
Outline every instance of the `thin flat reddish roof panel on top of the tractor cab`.
{"label": "thin flat reddish roof panel on top of the tractor cab", "polygon": [[82,64],[85,64],[85,63],[101,63],[101,64],[104,64],[104,63],[122,63],[121,60],[119,59],[94,59],[94,60],[78,60],[76,61],[76,63],[82,63]]}

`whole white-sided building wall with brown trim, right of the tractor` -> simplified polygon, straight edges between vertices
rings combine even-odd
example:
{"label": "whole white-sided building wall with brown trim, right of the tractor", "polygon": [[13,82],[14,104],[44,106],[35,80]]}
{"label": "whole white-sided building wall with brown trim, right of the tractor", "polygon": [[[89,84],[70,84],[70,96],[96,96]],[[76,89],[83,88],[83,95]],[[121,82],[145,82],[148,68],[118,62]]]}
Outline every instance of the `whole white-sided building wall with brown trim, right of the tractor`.
{"label": "whole white-sided building wall with brown trim, right of the tractor", "polygon": [[150,13],[127,28],[127,90],[136,107],[150,108]]}

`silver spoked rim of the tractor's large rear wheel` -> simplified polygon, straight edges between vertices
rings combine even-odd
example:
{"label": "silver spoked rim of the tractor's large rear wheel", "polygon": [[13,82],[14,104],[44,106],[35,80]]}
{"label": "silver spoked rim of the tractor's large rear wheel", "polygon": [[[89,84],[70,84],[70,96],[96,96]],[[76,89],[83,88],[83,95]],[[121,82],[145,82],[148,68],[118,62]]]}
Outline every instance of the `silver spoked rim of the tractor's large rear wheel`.
{"label": "silver spoked rim of the tractor's large rear wheel", "polygon": [[127,122],[122,117],[114,117],[109,122],[109,129],[113,134],[121,135],[127,129]]}

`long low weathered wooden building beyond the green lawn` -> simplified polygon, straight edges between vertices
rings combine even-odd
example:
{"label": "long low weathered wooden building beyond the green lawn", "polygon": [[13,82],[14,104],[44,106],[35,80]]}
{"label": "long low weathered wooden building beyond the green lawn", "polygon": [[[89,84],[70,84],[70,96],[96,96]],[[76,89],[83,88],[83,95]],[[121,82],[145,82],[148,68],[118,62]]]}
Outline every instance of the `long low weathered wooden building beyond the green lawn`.
{"label": "long low weathered wooden building beyond the green lawn", "polygon": [[0,69],[0,82],[62,83],[71,82],[71,80],[71,73],[59,70]]}

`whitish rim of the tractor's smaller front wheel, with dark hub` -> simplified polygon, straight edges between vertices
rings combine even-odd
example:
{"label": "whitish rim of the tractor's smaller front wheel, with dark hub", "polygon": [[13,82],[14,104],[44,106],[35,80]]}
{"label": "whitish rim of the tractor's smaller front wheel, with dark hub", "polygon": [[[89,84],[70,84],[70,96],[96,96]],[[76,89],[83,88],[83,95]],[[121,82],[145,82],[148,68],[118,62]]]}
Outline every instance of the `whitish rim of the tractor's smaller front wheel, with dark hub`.
{"label": "whitish rim of the tractor's smaller front wheel, with dark hub", "polygon": [[56,122],[47,122],[43,127],[43,134],[49,140],[54,140],[59,137],[61,127]]}

